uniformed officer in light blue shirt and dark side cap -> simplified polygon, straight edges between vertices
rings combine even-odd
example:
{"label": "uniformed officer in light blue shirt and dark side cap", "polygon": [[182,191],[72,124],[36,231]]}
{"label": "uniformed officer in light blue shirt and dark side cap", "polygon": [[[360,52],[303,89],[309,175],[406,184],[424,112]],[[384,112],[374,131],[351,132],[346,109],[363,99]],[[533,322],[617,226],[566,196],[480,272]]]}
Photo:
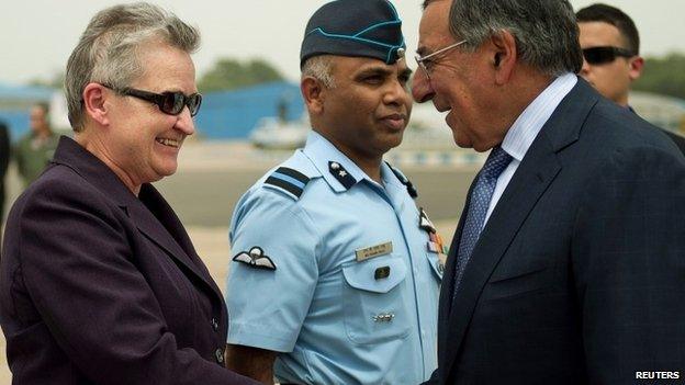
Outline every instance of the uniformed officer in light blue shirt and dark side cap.
{"label": "uniformed officer in light blue shirt and dark side cap", "polygon": [[383,155],[412,109],[401,20],[338,0],[300,54],[313,131],[238,202],[227,280],[229,369],[272,384],[418,384],[437,366],[443,248]]}

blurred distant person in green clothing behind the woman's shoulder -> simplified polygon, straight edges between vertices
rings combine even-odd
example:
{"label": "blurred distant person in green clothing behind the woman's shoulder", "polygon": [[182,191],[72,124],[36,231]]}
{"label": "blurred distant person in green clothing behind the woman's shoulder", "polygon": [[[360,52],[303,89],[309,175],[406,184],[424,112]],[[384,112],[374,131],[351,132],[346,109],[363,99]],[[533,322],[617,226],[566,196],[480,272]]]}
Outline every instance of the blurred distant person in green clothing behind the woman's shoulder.
{"label": "blurred distant person in green clothing behind the woman's shoulder", "polygon": [[13,151],[24,186],[41,175],[57,148],[58,135],[49,126],[48,111],[46,103],[31,107],[31,131],[19,139]]}

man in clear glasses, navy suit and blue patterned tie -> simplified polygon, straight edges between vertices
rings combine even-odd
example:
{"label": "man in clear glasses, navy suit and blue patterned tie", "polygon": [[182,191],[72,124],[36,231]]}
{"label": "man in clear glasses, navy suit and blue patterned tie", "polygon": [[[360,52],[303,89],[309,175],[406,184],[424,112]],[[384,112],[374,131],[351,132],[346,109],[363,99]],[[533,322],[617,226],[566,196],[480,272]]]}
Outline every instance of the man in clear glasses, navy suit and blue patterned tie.
{"label": "man in clear glasses, navy suit and blue patterned tie", "polygon": [[449,112],[460,147],[492,149],[450,248],[431,382],[682,376],[685,158],[574,75],[568,1],[424,5],[414,98]]}

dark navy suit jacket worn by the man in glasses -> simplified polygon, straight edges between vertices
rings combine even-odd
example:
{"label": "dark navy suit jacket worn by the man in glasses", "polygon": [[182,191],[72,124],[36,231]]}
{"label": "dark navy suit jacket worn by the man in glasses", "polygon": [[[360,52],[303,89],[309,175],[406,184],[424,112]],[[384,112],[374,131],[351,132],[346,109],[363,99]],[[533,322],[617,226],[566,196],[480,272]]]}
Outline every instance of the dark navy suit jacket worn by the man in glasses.
{"label": "dark navy suit jacket worn by the man in glasses", "polygon": [[[439,384],[632,384],[685,371],[685,158],[585,81],[532,143],[452,302]],[[467,202],[468,207],[468,202]]]}

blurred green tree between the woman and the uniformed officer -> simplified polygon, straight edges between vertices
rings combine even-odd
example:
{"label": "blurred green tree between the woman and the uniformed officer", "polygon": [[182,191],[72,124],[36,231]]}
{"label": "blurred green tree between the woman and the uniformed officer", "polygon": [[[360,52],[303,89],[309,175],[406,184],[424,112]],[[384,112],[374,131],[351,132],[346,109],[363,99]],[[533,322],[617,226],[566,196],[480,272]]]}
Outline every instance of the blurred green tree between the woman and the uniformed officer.
{"label": "blurred green tree between the woman and the uniformed officer", "polygon": [[263,59],[240,63],[222,58],[200,78],[198,89],[201,92],[233,90],[279,80],[283,76]]}

